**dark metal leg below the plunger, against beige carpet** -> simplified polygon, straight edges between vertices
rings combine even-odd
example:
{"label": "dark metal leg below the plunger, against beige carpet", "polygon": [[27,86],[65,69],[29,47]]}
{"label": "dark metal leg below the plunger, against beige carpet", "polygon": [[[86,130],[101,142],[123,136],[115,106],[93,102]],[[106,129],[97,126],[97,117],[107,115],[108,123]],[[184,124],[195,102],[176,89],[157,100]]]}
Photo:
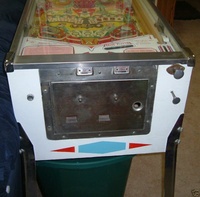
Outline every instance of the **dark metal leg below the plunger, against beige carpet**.
{"label": "dark metal leg below the plunger, against beige carpet", "polygon": [[167,141],[167,148],[165,153],[164,197],[174,196],[176,156],[178,144],[180,143],[180,133],[182,131],[183,117],[183,114],[179,117]]}

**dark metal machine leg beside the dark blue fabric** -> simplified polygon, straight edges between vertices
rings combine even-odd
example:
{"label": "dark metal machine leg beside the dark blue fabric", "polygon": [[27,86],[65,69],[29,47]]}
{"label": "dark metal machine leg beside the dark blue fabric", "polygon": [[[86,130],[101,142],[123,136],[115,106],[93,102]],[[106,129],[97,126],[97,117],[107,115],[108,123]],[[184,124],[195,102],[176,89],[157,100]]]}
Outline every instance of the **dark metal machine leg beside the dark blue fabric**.
{"label": "dark metal machine leg beside the dark blue fabric", "polygon": [[33,145],[19,125],[23,197],[42,197],[36,180]]}

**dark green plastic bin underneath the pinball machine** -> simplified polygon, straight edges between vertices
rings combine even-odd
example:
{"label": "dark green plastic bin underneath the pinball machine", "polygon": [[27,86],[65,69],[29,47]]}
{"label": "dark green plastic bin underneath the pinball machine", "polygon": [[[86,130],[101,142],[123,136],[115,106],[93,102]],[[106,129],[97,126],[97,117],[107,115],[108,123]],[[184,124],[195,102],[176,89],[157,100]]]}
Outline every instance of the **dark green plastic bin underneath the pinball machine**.
{"label": "dark green plastic bin underneath the pinball machine", "polygon": [[43,197],[123,197],[133,156],[37,162]]}

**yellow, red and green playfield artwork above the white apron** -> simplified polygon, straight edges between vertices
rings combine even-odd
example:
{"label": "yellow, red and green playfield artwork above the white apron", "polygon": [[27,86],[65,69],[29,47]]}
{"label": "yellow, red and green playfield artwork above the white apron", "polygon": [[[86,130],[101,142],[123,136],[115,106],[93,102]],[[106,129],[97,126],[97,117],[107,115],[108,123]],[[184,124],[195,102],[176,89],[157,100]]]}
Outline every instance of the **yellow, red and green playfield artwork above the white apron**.
{"label": "yellow, red and green playfield artwork above the white apron", "polygon": [[39,0],[29,36],[97,45],[142,35],[130,1]]}

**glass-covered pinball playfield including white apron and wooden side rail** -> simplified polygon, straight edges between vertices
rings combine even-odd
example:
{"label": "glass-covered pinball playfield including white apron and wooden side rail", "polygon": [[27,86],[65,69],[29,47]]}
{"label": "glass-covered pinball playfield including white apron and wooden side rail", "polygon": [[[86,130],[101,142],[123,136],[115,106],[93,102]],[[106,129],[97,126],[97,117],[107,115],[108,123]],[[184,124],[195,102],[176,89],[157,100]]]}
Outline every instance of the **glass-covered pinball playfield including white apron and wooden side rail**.
{"label": "glass-covered pinball playfield including white apron and wooden side rail", "polygon": [[34,1],[19,55],[176,51],[145,2]]}

